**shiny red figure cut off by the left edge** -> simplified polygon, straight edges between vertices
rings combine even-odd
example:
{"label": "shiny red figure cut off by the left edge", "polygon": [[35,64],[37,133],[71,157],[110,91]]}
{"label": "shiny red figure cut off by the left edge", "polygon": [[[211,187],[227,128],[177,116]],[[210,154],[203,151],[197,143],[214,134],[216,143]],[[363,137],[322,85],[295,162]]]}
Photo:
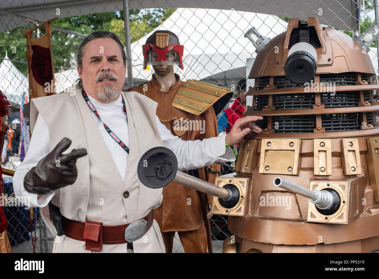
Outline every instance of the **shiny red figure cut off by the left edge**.
{"label": "shiny red figure cut off by the left edge", "polygon": [[[5,124],[5,119],[6,119],[6,116],[9,115],[10,113],[11,113],[11,104],[9,103],[5,94],[0,90],[0,119],[1,119],[0,146],[1,146],[1,151],[3,151],[3,148],[4,148],[4,146],[3,146],[4,145],[4,137],[6,134],[6,130],[8,129],[8,126]],[[1,177],[1,175],[2,175],[2,168],[0,166],[0,177]],[[3,191],[4,191],[4,181],[3,181],[3,179],[0,179],[0,197],[3,195]],[[5,199],[0,199],[0,200],[5,200]],[[3,205],[0,204],[0,234],[3,233],[7,227],[8,227],[8,221],[5,219],[5,212],[3,209]],[[0,241],[2,241],[2,239],[3,238],[0,238]],[[3,247],[3,245],[1,245],[1,243],[0,243],[0,246]]]}

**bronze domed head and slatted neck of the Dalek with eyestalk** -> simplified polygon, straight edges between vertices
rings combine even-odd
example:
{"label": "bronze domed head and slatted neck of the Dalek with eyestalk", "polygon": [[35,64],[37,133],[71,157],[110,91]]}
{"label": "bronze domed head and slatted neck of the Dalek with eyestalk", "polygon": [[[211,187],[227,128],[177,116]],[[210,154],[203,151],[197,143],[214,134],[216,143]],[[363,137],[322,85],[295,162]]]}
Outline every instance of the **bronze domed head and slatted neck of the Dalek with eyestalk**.
{"label": "bronze domed head and slatted neck of the Dalek with eyestalk", "polygon": [[321,27],[316,17],[304,24],[292,19],[287,32],[269,40],[255,58],[248,77],[255,86],[246,93],[254,96],[253,106],[245,115],[262,115],[257,124],[273,137],[376,134],[379,102],[373,101],[372,90],[379,87],[371,82],[374,74],[369,55],[354,39]]}

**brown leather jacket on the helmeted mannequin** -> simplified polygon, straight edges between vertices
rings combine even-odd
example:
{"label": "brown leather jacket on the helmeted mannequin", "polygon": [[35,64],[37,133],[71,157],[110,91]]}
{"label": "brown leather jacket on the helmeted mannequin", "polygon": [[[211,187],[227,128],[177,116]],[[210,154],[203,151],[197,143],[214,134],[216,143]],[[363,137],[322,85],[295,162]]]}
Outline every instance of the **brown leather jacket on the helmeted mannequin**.
{"label": "brown leather jacket on the helmeted mannequin", "polygon": [[[175,117],[184,117],[188,120],[205,120],[203,134],[200,134],[199,130],[186,131],[179,137],[182,140],[202,140],[218,136],[217,120],[213,107],[210,107],[200,115],[194,115],[171,105],[179,87],[184,83],[177,74],[175,74],[175,77],[178,81],[170,87],[168,92],[160,91],[161,85],[154,78],[154,75],[152,80],[145,83],[147,86],[145,86],[145,95],[158,103],[157,116],[161,120],[170,120]],[[144,93],[143,88],[138,86],[132,87],[127,91]],[[172,129],[173,121],[161,121],[161,123],[163,123],[174,136],[177,136]],[[219,164],[213,164],[211,166],[205,166],[202,168],[203,170],[199,169],[200,179],[214,184],[218,173],[208,172],[207,168],[220,171],[221,167]],[[184,172],[187,173],[186,171]],[[157,220],[162,232],[197,230],[205,224],[202,202],[208,204],[212,203],[212,198],[211,195],[206,195],[194,189],[171,182],[163,188],[163,201],[162,204],[154,210],[154,218]]]}

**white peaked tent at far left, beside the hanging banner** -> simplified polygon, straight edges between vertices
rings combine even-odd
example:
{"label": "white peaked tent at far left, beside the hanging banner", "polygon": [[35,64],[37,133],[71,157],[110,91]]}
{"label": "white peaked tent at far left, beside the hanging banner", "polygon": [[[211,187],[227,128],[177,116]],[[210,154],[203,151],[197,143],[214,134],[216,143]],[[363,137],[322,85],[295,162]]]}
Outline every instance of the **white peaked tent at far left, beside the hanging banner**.
{"label": "white peaked tent at far left, beside the hanging banner", "polygon": [[5,55],[0,64],[0,90],[6,95],[12,106],[21,105],[22,94],[28,94],[29,82]]}

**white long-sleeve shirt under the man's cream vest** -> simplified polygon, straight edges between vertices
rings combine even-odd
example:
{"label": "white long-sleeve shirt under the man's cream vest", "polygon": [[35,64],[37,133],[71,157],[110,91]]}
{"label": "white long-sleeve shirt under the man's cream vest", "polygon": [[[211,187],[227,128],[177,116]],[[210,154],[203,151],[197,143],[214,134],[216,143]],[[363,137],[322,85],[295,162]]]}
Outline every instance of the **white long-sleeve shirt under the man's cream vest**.
{"label": "white long-sleeve shirt under the man's cream vest", "polygon": [[[96,108],[101,120],[119,137],[125,145],[129,146],[129,132],[127,117],[122,109],[122,97],[109,103],[96,101],[87,95]],[[91,110],[90,108],[88,108]],[[91,114],[108,147],[112,159],[124,180],[127,169],[128,153],[105,131],[101,121],[92,112]],[[64,116],[62,116],[64,117]],[[172,136],[171,132],[156,117],[157,126],[162,139],[162,145],[171,149],[178,159],[178,170],[190,170],[203,166],[209,166],[215,162],[234,161],[234,153],[231,148],[225,147],[225,135],[204,140],[185,141],[178,136]],[[52,147],[54,148],[54,147]],[[27,172],[35,167],[38,162],[50,153],[49,130],[46,121],[39,114],[33,135],[30,140],[28,152],[24,161],[18,166],[13,177],[13,188],[16,196],[30,196],[31,207],[42,207],[49,203],[55,192],[42,195],[38,199],[37,194],[27,192],[23,187],[23,180]],[[101,164],[101,162],[99,162]]]}

